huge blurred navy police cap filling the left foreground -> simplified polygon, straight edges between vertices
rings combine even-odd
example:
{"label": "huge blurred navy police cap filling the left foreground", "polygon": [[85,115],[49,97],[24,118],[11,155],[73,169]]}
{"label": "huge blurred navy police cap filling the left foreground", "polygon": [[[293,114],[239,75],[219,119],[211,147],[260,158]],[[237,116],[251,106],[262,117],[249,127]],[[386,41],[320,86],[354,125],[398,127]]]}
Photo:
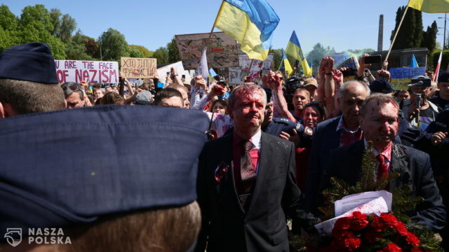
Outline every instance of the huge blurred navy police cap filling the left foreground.
{"label": "huge blurred navy police cap filling the left foreground", "polygon": [[59,228],[194,202],[207,127],[202,111],[159,106],[0,120],[0,230]]}

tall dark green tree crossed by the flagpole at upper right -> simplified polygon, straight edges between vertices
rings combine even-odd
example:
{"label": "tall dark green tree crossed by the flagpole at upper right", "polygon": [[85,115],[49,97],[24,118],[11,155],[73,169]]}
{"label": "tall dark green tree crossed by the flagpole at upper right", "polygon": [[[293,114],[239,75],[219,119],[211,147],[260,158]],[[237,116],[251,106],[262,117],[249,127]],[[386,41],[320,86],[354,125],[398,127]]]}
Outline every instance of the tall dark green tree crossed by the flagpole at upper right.
{"label": "tall dark green tree crossed by the flagpole at upper right", "polygon": [[[401,6],[396,11],[396,26],[391,31],[390,41],[393,41],[394,33],[398,29],[402,15],[406,10],[406,6]],[[394,41],[393,49],[406,49],[420,47],[422,42],[422,13],[420,10],[408,8],[406,16],[399,29],[396,41]]]}

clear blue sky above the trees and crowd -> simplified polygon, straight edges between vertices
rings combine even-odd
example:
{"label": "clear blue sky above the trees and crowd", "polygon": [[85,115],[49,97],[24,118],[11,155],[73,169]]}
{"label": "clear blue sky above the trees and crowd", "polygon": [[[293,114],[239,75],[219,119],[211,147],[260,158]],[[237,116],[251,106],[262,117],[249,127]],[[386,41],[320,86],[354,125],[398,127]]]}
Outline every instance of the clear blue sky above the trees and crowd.
{"label": "clear blue sky above the trees and crowd", "polygon": [[[267,0],[281,22],[274,31],[272,45],[285,48],[295,29],[304,52],[316,43],[335,48],[373,48],[377,50],[379,15],[384,15],[383,49],[388,50],[398,6],[408,0]],[[41,3],[46,8],[59,8],[76,19],[83,34],[98,38],[109,28],[125,35],[129,44],[144,45],[149,50],[165,46],[175,34],[206,33],[212,29],[220,0],[127,0],[127,1],[61,1],[4,0],[15,15],[22,8]],[[443,45],[442,13],[422,13],[424,29],[436,20],[437,41]],[[448,15],[449,19],[449,15]],[[449,29],[449,22],[447,24]],[[215,31],[218,31],[215,29]]]}

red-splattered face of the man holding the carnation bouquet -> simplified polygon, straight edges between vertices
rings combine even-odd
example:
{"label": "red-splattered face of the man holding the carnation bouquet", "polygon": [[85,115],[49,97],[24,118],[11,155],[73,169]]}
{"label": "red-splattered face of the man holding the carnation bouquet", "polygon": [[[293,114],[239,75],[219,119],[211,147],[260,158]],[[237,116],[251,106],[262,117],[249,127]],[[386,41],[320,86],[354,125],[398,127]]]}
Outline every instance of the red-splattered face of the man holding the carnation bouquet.
{"label": "red-splattered face of the man holding the carnation bouquet", "polygon": [[377,105],[376,102],[369,102],[367,106],[367,109],[373,109],[373,113],[361,120],[366,140],[373,141],[375,146],[388,146],[396,136],[399,127],[396,104],[388,102]]}

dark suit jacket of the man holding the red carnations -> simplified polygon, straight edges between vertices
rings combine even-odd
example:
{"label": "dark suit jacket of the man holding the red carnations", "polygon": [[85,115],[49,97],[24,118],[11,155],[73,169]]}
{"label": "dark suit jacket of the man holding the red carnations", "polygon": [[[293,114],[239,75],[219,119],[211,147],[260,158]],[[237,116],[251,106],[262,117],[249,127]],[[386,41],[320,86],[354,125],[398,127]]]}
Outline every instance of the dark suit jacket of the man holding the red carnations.
{"label": "dark suit jacket of the man holding the red carnations", "polygon": [[[331,151],[329,162],[332,165],[326,172],[326,181],[336,176],[355,184],[360,176],[364,150],[365,145],[361,140]],[[413,186],[414,195],[424,198],[424,202],[417,205],[415,211],[410,213],[412,221],[426,225],[433,231],[441,230],[445,225],[445,207],[436,187],[429,155],[415,148],[393,144],[390,172],[400,174],[398,179],[389,184],[390,190],[408,183]]]}

